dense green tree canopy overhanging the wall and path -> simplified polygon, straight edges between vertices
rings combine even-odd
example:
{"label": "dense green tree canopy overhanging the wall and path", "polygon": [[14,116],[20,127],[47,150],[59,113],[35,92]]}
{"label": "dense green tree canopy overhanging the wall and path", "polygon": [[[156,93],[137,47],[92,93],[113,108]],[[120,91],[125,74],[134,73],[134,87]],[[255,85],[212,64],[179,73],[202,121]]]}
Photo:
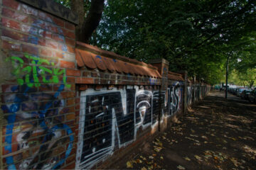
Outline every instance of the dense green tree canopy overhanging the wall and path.
{"label": "dense green tree canopy overhanging the wall and path", "polygon": [[253,0],[106,0],[90,43],[144,62],[164,58],[171,71],[214,84],[227,56],[230,72],[255,67],[255,11]]}

